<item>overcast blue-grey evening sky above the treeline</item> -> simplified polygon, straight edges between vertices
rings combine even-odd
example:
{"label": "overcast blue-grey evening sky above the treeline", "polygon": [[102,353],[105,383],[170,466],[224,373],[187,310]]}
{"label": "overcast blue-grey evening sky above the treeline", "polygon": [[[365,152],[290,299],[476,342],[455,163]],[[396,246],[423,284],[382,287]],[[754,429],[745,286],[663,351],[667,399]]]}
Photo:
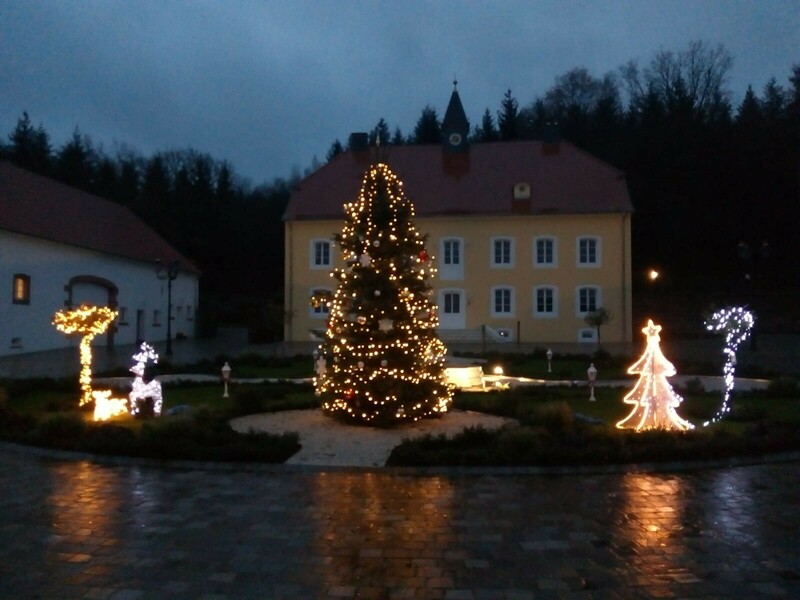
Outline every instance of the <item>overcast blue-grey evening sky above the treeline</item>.
{"label": "overcast blue-grey evening sky above the treeline", "polygon": [[55,147],[192,147],[254,184],[385,118],[412,131],[458,79],[472,125],[574,67],[596,77],[691,40],[733,55],[734,105],[800,63],[798,0],[0,0],[0,134],[27,110]]}

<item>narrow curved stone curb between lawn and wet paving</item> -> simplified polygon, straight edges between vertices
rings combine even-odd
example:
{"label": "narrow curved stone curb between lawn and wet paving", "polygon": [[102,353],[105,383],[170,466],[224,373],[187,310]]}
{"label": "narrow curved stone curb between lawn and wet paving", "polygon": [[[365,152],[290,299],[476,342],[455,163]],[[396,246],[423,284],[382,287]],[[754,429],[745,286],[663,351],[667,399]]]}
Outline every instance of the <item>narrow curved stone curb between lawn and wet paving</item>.
{"label": "narrow curved stone curb between lawn and wet paving", "polygon": [[763,464],[800,462],[800,451],[780,452],[755,456],[740,456],[725,459],[648,462],[614,465],[574,465],[552,467],[353,467],[334,465],[287,465],[249,462],[209,462],[191,460],[158,460],[132,456],[108,456],[88,452],[71,452],[25,446],[0,441],[0,452],[17,456],[34,456],[50,460],[91,461],[112,466],[143,466],[190,471],[239,471],[278,475],[313,474],[326,472],[386,473],[410,477],[427,476],[519,476],[519,475],[614,475],[620,473],[671,473],[705,469],[729,469]]}

